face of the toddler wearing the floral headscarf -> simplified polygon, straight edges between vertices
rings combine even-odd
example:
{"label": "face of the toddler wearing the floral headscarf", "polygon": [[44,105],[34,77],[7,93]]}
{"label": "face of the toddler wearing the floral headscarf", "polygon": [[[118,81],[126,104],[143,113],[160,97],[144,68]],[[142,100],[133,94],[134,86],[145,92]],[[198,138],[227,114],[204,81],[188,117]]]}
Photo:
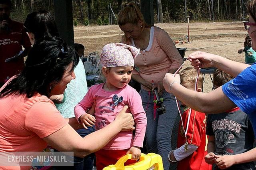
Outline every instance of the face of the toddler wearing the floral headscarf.
{"label": "face of the toddler wearing the floral headscarf", "polygon": [[131,80],[132,70],[132,66],[111,67],[110,69],[102,67],[102,71],[106,77],[104,87],[110,91],[116,91],[125,87]]}

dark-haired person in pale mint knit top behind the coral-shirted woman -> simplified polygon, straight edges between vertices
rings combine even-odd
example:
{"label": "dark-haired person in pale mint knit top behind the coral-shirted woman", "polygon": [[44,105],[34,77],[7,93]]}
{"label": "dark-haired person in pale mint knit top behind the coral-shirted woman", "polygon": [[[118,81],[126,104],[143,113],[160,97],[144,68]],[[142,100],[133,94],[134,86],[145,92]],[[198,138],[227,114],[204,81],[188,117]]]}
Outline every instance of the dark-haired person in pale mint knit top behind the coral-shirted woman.
{"label": "dark-haired person in pale mint knit top behind the coral-shirted woman", "polygon": [[[40,38],[59,36],[56,23],[52,14],[48,11],[32,12],[28,14],[26,21],[24,22],[30,42],[40,40]],[[74,119],[74,107],[80,102],[87,93],[87,82],[84,65],[81,59],[79,59],[77,67],[74,69],[76,79],[68,83],[64,94],[52,95],[50,99],[54,101],[58,111],[64,118],[70,118],[70,121]],[[76,121],[76,120],[74,120]],[[88,129],[81,128],[77,130],[78,134],[82,137],[94,132],[93,127]],[[90,154],[85,158],[74,158],[74,170],[92,170],[94,154]]]}

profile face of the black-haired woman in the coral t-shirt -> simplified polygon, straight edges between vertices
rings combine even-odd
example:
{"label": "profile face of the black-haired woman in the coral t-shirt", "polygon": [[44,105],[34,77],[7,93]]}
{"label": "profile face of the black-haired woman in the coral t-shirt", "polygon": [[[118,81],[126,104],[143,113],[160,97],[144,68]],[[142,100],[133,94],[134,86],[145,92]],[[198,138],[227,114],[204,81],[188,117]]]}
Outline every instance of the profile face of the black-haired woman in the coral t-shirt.
{"label": "profile face of the black-haired woman in the coral t-shirt", "polygon": [[76,78],[76,75],[74,73],[74,70],[71,71],[73,66],[73,63],[70,63],[70,65],[68,65],[68,68],[65,70],[62,79],[60,80],[60,82],[58,82],[52,89],[51,89],[51,93],[50,95],[61,95],[64,94],[65,89],[67,88],[68,83],[70,83],[70,81],[72,79]]}

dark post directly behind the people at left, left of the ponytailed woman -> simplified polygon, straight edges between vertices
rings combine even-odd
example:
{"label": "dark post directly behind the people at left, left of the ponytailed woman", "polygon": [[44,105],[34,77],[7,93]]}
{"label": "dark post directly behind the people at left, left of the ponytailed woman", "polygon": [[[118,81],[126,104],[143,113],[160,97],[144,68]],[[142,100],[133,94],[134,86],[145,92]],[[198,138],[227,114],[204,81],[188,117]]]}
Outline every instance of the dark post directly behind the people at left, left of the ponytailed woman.
{"label": "dark post directly behind the people at left, left of the ponytailed woman", "polygon": [[54,0],[54,15],[60,37],[70,46],[74,45],[72,0]]}

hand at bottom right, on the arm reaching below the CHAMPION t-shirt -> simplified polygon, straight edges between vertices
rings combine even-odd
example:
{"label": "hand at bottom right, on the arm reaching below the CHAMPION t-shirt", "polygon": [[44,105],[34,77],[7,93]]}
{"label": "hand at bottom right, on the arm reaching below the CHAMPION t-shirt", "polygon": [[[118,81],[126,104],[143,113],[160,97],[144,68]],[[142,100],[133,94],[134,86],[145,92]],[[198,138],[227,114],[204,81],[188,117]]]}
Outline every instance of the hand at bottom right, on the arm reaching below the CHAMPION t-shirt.
{"label": "hand at bottom right, on the arm reaching below the CHAMPION t-shirt", "polygon": [[235,164],[234,155],[224,155],[219,156],[215,155],[214,158],[216,158],[215,163],[221,170],[229,168],[233,164]]}

